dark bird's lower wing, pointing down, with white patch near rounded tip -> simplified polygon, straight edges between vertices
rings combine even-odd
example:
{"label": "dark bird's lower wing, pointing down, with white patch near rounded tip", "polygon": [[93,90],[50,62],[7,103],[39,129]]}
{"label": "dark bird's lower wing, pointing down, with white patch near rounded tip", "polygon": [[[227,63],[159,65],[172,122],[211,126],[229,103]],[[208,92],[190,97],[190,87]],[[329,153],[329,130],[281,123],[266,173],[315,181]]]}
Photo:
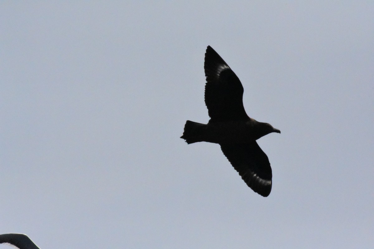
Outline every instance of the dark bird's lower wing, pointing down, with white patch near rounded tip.
{"label": "dark bird's lower wing, pointing down, with white patch near rounded tip", "polygon": [[272,168],[257,142],[220,145],[223,154],[248,187],[262,196],[268,196],[272,190]]}

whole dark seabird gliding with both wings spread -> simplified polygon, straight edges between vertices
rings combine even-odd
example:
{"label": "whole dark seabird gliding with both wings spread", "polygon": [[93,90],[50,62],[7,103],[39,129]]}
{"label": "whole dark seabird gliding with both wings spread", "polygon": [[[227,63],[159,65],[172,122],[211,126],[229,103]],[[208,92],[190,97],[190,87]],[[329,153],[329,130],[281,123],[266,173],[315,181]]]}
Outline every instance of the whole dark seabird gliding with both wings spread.
{"label": "whole dark seabird gliding with both wings spread", "polygon": [[219,144],[244,182],[254,192],[269,196],[272,190],[272,168],[256,140],[281,131],[268,123],[257,122],[246,114],[242,83],[211,46],[206,48],[204,70],[205,105],[211,119],[208,124],[187,120],[181,138],[187,144]]}

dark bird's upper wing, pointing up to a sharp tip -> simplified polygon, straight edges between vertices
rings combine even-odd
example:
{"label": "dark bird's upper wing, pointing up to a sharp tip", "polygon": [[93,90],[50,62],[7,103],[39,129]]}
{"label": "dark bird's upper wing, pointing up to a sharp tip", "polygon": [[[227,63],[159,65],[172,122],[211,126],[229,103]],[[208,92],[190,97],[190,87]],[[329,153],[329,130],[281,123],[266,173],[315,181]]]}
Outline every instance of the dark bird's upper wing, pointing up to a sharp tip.
{"label": "dark bird's upper wing, pointing up to a sharp tip", "polygon": [[233,70],[210,46],[205,53],[205,104],[212,121],[246,120],[243,86]]}

